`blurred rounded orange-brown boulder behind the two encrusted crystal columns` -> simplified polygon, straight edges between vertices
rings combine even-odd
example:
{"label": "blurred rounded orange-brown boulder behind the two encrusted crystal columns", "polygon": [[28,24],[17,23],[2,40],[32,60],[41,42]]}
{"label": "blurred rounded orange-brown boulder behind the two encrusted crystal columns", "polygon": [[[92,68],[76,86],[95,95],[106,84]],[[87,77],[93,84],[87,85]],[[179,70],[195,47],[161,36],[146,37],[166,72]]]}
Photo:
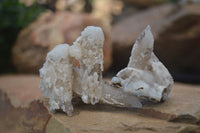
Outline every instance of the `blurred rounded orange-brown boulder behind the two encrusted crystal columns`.
{"label": "blurred rounded orange-brown boulder behind the two encrusted crystal columns", "polygon": [[48,51],[55,45],[72,45],[86,26],[100,26],[104,31],[104,68],[111,64],[110,32],[101,20],[89,14],[45,12],[35,22],[22,30],[13,48],[13,63],[18,72],[38,73]]}

